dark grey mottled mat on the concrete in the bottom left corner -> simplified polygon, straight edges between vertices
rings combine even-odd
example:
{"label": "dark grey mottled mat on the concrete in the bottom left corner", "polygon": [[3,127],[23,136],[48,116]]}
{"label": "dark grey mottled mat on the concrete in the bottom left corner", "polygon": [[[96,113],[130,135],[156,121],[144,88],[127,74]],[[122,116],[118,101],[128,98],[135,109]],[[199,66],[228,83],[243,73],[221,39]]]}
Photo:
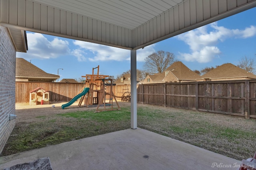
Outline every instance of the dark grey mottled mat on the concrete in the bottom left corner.
{"label": "dark grey mottled mat on the concrete in the bottom left corner", "polygon": [[4,170],[52,170],[52,166],[49,157],[45,157],[34,162],[17,164]]}

